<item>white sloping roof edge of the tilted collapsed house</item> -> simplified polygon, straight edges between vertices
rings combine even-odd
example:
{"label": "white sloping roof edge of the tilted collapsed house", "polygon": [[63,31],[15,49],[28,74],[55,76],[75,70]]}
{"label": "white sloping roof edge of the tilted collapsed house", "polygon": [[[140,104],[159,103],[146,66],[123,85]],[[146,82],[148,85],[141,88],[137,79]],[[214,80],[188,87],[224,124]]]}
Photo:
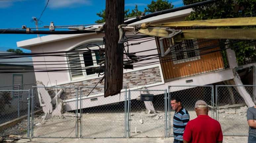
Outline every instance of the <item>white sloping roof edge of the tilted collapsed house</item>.
{"label": "white sloping roof edge of the tilted collapsed house", "polygon": [[[129,24],[129,26],[141,24],[144,22],[156,22],[156,21],[178,18],[178,17],[189,15],[191,12],[192,12],[192,9],[186,9],[178,12],[166,13],[166,14],[150,17],[141,21],[137,21],[135,23]],[[135,19],[135,18],[130,18],[126,21],[129,21],[132,19]],[[101,24],[93,25],[94,28],[98,28],[99,26],[102,26],[102,25]],[[79,37],[79,36],[92,35],[92,34],[95,34],[95,33],[70,34],[70,35],[47,35],[47,36],[41,36],[41,37],[27,39],[23,41],[18,41],[17,46],[25,49],[30,49],[30,46],[34,46],[34,45],[39,45],[39,44],[44,44],[44,43]]]}

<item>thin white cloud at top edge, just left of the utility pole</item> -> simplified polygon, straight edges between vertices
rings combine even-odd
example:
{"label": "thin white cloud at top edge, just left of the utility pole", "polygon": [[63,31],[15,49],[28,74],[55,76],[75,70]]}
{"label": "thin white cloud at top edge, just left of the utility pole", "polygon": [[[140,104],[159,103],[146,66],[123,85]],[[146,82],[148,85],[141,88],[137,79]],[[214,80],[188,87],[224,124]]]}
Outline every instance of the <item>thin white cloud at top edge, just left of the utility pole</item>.
{"label": "thin white cloud at top edge, just left of the utility pole", "polygon": [[48,3],[50,8],[79,7],[81,5],[91,5],[91,2],[89,0],[50,0]]}

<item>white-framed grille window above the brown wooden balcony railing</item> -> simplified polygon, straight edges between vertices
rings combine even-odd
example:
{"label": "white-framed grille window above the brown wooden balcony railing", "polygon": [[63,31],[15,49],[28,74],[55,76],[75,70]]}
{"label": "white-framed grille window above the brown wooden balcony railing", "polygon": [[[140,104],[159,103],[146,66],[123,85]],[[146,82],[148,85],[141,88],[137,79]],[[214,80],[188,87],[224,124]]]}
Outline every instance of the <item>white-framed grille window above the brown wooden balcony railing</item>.
{"label": "white-framed grille window above the brown wooden balcony railing", "polygon": [[183,40],[183,42],[174,48],[175,56],[173,59],[174,64],[199,60],[197,39]]}

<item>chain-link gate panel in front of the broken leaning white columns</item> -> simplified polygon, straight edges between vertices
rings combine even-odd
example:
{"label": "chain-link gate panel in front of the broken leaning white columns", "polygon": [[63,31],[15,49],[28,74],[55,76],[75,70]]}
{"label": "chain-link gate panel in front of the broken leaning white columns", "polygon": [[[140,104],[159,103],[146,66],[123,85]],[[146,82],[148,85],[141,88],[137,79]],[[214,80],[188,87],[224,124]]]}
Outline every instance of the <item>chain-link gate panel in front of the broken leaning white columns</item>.
{"label": "chain-link gate panel in front of the broken leaning white columns", "polygon": [[77,138],[78,88],[33,86],[31,113],[31,137]]}

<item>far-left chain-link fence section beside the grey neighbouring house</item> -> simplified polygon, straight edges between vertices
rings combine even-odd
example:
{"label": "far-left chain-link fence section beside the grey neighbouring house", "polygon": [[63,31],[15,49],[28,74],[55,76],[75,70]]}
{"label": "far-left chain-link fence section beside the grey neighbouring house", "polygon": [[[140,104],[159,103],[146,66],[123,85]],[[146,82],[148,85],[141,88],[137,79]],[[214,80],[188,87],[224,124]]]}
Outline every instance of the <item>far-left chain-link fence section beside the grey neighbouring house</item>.
{"label": "far-left chain-link fence section beside the grey neighbouring house", "polygon": [[29,90],[0,90],[0,124],[27,115]]}

